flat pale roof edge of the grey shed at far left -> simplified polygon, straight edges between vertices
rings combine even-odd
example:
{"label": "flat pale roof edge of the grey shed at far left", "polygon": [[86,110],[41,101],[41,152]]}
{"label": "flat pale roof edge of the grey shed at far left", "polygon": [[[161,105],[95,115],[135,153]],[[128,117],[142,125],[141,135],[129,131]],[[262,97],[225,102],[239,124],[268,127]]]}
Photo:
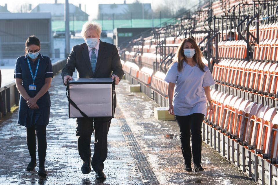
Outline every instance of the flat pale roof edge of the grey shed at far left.
{"label": "flat pale roof edge of the grey shed at far left", "polygon": [[0,12],[1,19],[51,19],[49,12],[35,12],[35,13],[3,13]]}

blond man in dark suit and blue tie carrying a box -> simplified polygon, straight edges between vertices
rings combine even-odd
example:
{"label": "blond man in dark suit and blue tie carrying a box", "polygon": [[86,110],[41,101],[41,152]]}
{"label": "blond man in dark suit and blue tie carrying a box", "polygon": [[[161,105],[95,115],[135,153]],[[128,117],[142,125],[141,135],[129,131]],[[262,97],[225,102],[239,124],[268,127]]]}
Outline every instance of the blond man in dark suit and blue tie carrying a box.
{"label": "blond man in dark suit and blue tie carrying a box", "polygon": [[[67,85],[67,80],[72,79],[75,68],[79,78],[111,77],[116,80],[116,85],[118,85],[124,74],[118,50],[115,45],[100,41],[100,33],[101,28],[98,23],[87,22],[83,25],[81,35],[86,43],[72,48],[62,71],[65,85]],[[107,157],[107,134],[111,122],[108,121],[108,118],[93,119],[94,126],[93,122],[87,118],[77,118],[76,120],[78,152],[83,160],[81,171],[83,174],[90,173],[92,164],[92,168],[96,172],[96,179],[106,179],[103,173],[103,162]],[[98,120],[107,120],[107,122],[96,122]],[[94,155],[91,160],[91,136],[93,132],[95,138]]]}

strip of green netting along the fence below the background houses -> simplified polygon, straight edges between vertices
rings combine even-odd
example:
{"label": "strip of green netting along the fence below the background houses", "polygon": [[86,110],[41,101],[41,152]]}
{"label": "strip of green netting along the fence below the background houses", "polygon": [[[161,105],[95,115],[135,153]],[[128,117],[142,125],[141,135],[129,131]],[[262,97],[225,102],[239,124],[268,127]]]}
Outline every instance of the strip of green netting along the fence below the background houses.
{"label": "strip of green netting along the fence below the background houses", "polygon": [[[169,19],[161,19],[161,23],[168,21]],[[69,30],[81,30],[82,25],[86,21],[69,21]],[[100,25],[102,25],[102,30],[113,30],[112,20],[96,20]],[[172,23],[173,20],[168,21]],[[74,23],[74,25],[73,25]],[[160,19],[133,19],[132,26],[131,20],[115,20],[114,28],[151,28],[152,25],[157,26],[160,24]],[[64,21],[52,21],[52,31],[65,31]]]}

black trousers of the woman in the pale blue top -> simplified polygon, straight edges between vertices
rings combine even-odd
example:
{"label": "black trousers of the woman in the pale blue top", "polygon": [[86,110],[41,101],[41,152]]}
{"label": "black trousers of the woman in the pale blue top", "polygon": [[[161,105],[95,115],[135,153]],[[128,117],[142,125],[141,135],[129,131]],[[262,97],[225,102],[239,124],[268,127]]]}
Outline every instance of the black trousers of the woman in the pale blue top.
{"label": "black trousers of the woman in the pale blue top", "polygon": [[[193,163],[200,164],[202,162],[202,122],[204,120],[204,114],[193,113],[188,116],[175,115],[175,118],[180,127],[180,143],[184,158],[184,166],[186,164],[191,165],[192,155]],[[190,136],[192,143],[192,155]]]}

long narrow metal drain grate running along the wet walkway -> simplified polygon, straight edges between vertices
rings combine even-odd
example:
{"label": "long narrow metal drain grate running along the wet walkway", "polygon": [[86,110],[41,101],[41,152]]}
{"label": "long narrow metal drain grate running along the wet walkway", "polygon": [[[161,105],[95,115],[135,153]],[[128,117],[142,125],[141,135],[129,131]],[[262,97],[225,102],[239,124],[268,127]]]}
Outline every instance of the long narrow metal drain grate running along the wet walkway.
{"label": "long narrow metal drain grate running along the wet walkway", "polygon": [[120,124],[125,141],[130,146],[131,155],[136,163],[138,171],[141,174],[144,184],[159,185],[158,179],[156,178],[156,175],[154,174],[147,157],[142,152],[120,109],[116,109],[115,117]]}

